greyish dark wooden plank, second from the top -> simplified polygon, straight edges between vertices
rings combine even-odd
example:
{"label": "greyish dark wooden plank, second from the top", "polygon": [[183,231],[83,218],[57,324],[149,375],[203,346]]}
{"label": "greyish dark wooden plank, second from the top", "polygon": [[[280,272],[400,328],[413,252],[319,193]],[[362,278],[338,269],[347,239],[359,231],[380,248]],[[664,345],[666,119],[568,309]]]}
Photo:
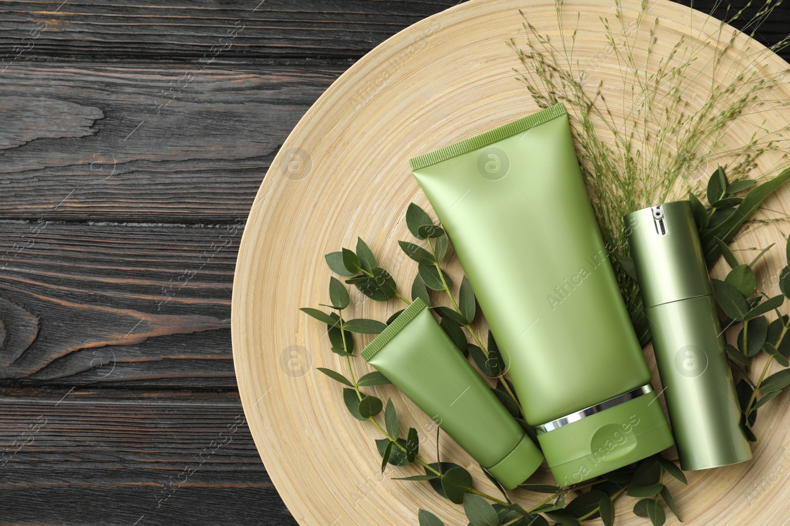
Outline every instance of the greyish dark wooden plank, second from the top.
{"label": "greyish dark wooden plank, second from the top", "polygon": [[13,203],[0,218],[246,217],[280,144],[340,73],[13,65],[0,75],[0,173]]}

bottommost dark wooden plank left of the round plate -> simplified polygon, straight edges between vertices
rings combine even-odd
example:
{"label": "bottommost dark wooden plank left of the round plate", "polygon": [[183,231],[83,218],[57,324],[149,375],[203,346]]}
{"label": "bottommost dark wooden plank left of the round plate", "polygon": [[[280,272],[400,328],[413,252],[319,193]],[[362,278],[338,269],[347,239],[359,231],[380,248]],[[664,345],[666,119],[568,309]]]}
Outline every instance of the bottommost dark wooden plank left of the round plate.
{"label": "bottommost dark wooden plank left of the round plate", "polygon": [[2,524],[295,524],[237,394],[10,390],[0,405]]}

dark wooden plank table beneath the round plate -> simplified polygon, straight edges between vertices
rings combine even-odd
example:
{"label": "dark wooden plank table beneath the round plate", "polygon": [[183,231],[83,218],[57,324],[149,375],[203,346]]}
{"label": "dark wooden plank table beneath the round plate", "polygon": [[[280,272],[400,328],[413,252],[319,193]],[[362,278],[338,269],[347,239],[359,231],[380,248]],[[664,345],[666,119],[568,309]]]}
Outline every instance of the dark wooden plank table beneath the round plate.
{"label": "dark wooden plank table beneath the round plate", "polygon": [[295,524],[231,361],[245,218],[318,95],[455,3],[0,2],[0,524]]}

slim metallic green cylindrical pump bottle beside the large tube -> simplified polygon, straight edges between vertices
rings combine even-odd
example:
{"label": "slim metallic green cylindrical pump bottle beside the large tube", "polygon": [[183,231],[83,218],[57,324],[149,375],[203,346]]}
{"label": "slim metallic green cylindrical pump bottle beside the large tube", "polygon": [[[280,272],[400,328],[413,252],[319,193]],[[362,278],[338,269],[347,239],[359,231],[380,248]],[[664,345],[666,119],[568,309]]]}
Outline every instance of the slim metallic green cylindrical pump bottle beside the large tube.
{"label": "slim metallic green cylindrical pump bottle beside the large tube", "polygon": [[684,470],[751,458],[713,288],[688,201],[626,215],[631,256],[653,335]]}

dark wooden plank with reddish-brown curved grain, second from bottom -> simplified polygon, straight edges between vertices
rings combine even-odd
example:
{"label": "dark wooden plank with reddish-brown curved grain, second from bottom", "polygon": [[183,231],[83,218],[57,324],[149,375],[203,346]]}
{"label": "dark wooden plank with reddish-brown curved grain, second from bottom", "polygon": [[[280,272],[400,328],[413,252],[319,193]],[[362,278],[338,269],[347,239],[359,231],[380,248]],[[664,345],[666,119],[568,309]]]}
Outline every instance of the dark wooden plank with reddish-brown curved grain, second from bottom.
{"label": "dark wooden plank with reddish-brown curved grain, second from bottom", "polygon": [[232,388],[228,326],[242,232],[241,221],[0,222],[0,377]]}

